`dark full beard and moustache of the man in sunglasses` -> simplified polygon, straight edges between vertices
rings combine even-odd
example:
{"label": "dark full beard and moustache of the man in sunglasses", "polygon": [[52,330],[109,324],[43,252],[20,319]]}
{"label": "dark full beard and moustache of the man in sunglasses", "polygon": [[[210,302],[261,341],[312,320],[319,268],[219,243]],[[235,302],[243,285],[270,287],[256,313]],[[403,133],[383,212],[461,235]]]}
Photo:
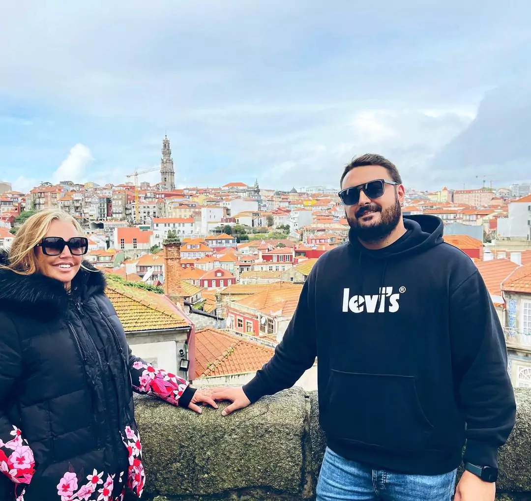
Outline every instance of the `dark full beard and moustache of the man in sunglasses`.
{"label": "dark full beard and moustache of the man in sunglasses", "polygon": [[[371,211],[381,213],[380,221],[359,221],[359,218]],[[375,244],[391,234],[400,222],[401,217],[402,211],[400,209],[400,202],[398,201],[398,197],[396,197],[395,204],[391,205],[388,209],[383,210],[375,203],[364,205],[356,211],[354,218],[349,218],[347,215],[347,221],[352,232],[359,240],[366,242],[367,244]]]}

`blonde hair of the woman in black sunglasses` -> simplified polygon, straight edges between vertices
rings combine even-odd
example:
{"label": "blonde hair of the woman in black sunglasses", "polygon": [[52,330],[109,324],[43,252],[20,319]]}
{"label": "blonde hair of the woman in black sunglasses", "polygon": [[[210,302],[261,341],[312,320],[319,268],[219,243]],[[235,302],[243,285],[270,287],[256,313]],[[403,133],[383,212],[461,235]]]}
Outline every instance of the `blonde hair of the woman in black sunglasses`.
{"label": "blonde hair of the woman in black sunglasses", "polygon": [[0,265],[0,269],[8,269],[19,275],[36,273],[39,265],[35,255],[35,246],[46,236],[52,221],[70,222],[78,230],[80,237],[85,235],[78,221],[67,212],[58,209],[42,209],[22,223],[9,249],[9,264]]}

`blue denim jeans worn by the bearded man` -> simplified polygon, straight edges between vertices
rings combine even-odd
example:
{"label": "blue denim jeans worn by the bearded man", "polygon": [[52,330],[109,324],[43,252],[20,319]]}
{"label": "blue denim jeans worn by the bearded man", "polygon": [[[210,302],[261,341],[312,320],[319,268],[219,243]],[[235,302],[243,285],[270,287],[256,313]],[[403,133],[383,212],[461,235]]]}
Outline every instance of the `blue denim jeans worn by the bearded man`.
{"label": "blue denim jeans worn by the bearded man", "polygon": [[316,501],[450,501],[457,470],[409,475],[373,470],[331,451],[324,453]]}

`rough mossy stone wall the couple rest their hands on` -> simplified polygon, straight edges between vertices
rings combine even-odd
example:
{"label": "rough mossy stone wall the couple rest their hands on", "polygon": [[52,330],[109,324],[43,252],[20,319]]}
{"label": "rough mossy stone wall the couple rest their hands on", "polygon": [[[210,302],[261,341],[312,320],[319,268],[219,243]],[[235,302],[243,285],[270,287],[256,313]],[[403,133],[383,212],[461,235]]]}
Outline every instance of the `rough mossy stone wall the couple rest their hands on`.
{"label": "rough mossy stone wall the couple rest their hands on", "polygon": [[[531,391],[516,390],[517,423],[500,450],[498,497],[531,501]],[[152,501],[312,499],[324,453],[316,392],[295,387],[231,416],[135,396]],[[225,404],[220,405],[220,409]]]}

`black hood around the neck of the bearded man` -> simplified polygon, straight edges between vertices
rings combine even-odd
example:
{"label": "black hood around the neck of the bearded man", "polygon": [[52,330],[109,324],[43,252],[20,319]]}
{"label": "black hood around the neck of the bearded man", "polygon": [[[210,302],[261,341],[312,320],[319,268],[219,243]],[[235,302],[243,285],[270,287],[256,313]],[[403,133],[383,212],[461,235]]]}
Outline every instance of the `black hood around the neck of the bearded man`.
{"label": "black hood around the neck of the bearded man", "polygon": [[352,229],[348,232],[348,244],[361,254],[371,256],[373,259],[390,259],[405,254],[416,254],[442,244],[443,222],[434,215],[407,215],[404,216],[404,226],[409,232],[406,238],[383,249],[367,249],[359,243]]}

